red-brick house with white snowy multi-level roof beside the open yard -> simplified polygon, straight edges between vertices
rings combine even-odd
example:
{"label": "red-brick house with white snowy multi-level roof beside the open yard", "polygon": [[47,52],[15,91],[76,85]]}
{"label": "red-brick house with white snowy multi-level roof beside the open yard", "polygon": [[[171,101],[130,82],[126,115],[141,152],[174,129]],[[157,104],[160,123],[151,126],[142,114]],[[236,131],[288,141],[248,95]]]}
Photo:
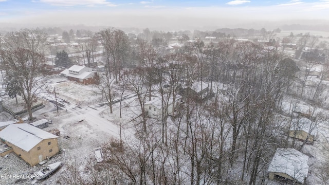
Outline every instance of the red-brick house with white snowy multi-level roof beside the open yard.
{"label": "red-brick house with white snowy multi-level roof beside the open yard", "polygon": [[70,81],[87,84],[97,84],[98,75],[92,68],[86,66],[73,65],[61,72]]}

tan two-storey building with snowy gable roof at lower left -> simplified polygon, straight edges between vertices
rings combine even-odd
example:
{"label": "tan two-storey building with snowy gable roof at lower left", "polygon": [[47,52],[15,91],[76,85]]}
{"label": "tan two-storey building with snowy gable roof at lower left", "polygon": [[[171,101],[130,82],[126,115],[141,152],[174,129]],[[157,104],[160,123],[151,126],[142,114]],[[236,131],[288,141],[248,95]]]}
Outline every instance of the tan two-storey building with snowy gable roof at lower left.
{"label": "tan two-storey building with snowy gable roof at lower left", "polygon": [[0,141],[31,166],[59,152],[58,136],[27,123],[10,124],[0,131]]}

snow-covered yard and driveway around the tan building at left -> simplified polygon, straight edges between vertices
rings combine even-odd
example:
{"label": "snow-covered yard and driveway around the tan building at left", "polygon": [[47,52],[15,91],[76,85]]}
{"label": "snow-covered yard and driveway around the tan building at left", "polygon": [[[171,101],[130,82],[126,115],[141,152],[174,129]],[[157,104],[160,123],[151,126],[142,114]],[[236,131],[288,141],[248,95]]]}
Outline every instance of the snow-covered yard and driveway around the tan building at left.
{"label": "snow-covered yard and driveway around the tan building at left", "polygon": [[[64,165],[51,177],[44,181],[38,181],[37,184],[65,184],[60,179],[60,176],[65,176],[67,165],[77,162],[80,165],[79,169],[81,173],[83,173],[86,163],[89,160],[95,160],[94,150],[97,147],[103,146],[112,138],[119,138],[120,122],[122,123],[122,132],[126,131],[126,135],[130,135],[129,129],[124,129],[124,127],[128,127],[125,123],[129,122],[132,116],[125,113],[127,113],[128,108],[126,105],[134,101],[131,99],[122,101],[122,118],[120,118],[119,103],[114,104],[114,113],[109,114],[107,105],[99,105],[103,101],[100,100],[100,97],[95,96],[93,85],[69,82],[59,76],[53,76],[52,79],[49,79],[49,82],[50,89],[56,87],[57,96],[60,98],[58,102],[62,101],[65,108],[61,108],[57,113],[56,106],[53,103],[41,98],[40,101],[45,104],[45,107],[36,110],[33,116],[35,120],[43,118],[52,120],[52,124],[44,128],[44,131],[50,131],[56,128],[61,133],[58,139],[60,153],[52,157],[44,165],[57,161],[63,161]],[[41,96],[48,100],[54,100],[54,97],[49,94],[42,94]],[[3,98],[11,106],[16,105],[15,99]],[[17,106],[21,106],[23,104],[22,101],[22,99],[19,99]],[[7,113],[2,113],[0,119],[0,121],[13,120]],[[65,139],[64,136],[69,136],[69,138]],[[39,164],[36,167],[30,167],[29,164],[16,156],[15,153],[10,153],[7,158],[0,157],[0,167],[2,167],[0,173],[8,175],[36,172],[43,168]],[[0,184],[31,183],[30,180],[22,180],[19,183],[15,181],[16,179],[0,179]]]}

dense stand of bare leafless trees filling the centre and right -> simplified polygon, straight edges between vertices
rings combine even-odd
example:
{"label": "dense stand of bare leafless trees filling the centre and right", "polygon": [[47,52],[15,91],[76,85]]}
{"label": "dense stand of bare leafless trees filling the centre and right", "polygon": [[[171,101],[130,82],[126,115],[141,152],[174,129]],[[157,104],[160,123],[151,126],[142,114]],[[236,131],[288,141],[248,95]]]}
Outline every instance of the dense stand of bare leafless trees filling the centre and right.
{"label": "dense stand of bare leafless trees filling the centre and right", "polygon": [[[280,135],[285,131],[279,114],[299,71],[293,60],[277,49],[229,39],[209,45],[197,41],[181,52],[162,55],[154,41],[138,38],[131,47],[126,42],[133,41],[122,40],[120,31],[102,30],[99,36],[108,47],[103,84],[116,92],[120,88],[114,87],[125,84],[137,95],[140,110],[132,121],[135,137],[109,146],[112,160],[104,165],[117,169],[111,182],[266,184],[276,148],[293,146]],[[135,68],[121,64],[121,49],[135,53]],[[199,81],[214,91],[212,98],[195,98],[189,89]],[[187,90],[179,112],[168,110],[168,100],[182,87]],[[154,91],[162,100],[158,120],[148,118],[144,107]]]}

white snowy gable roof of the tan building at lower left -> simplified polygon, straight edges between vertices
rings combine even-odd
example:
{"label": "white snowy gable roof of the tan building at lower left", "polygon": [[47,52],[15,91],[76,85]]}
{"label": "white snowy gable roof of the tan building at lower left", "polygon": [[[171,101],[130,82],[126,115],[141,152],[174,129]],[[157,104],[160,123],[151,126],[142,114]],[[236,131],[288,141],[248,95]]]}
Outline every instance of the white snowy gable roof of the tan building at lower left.
{"label": "white snowy gable roof of the tan building at lower left", "polygon": [[0,131],[0,138],[29,152],[44,139],[58,138],[53,134],[41,130],[27,123],[11,124]]}

